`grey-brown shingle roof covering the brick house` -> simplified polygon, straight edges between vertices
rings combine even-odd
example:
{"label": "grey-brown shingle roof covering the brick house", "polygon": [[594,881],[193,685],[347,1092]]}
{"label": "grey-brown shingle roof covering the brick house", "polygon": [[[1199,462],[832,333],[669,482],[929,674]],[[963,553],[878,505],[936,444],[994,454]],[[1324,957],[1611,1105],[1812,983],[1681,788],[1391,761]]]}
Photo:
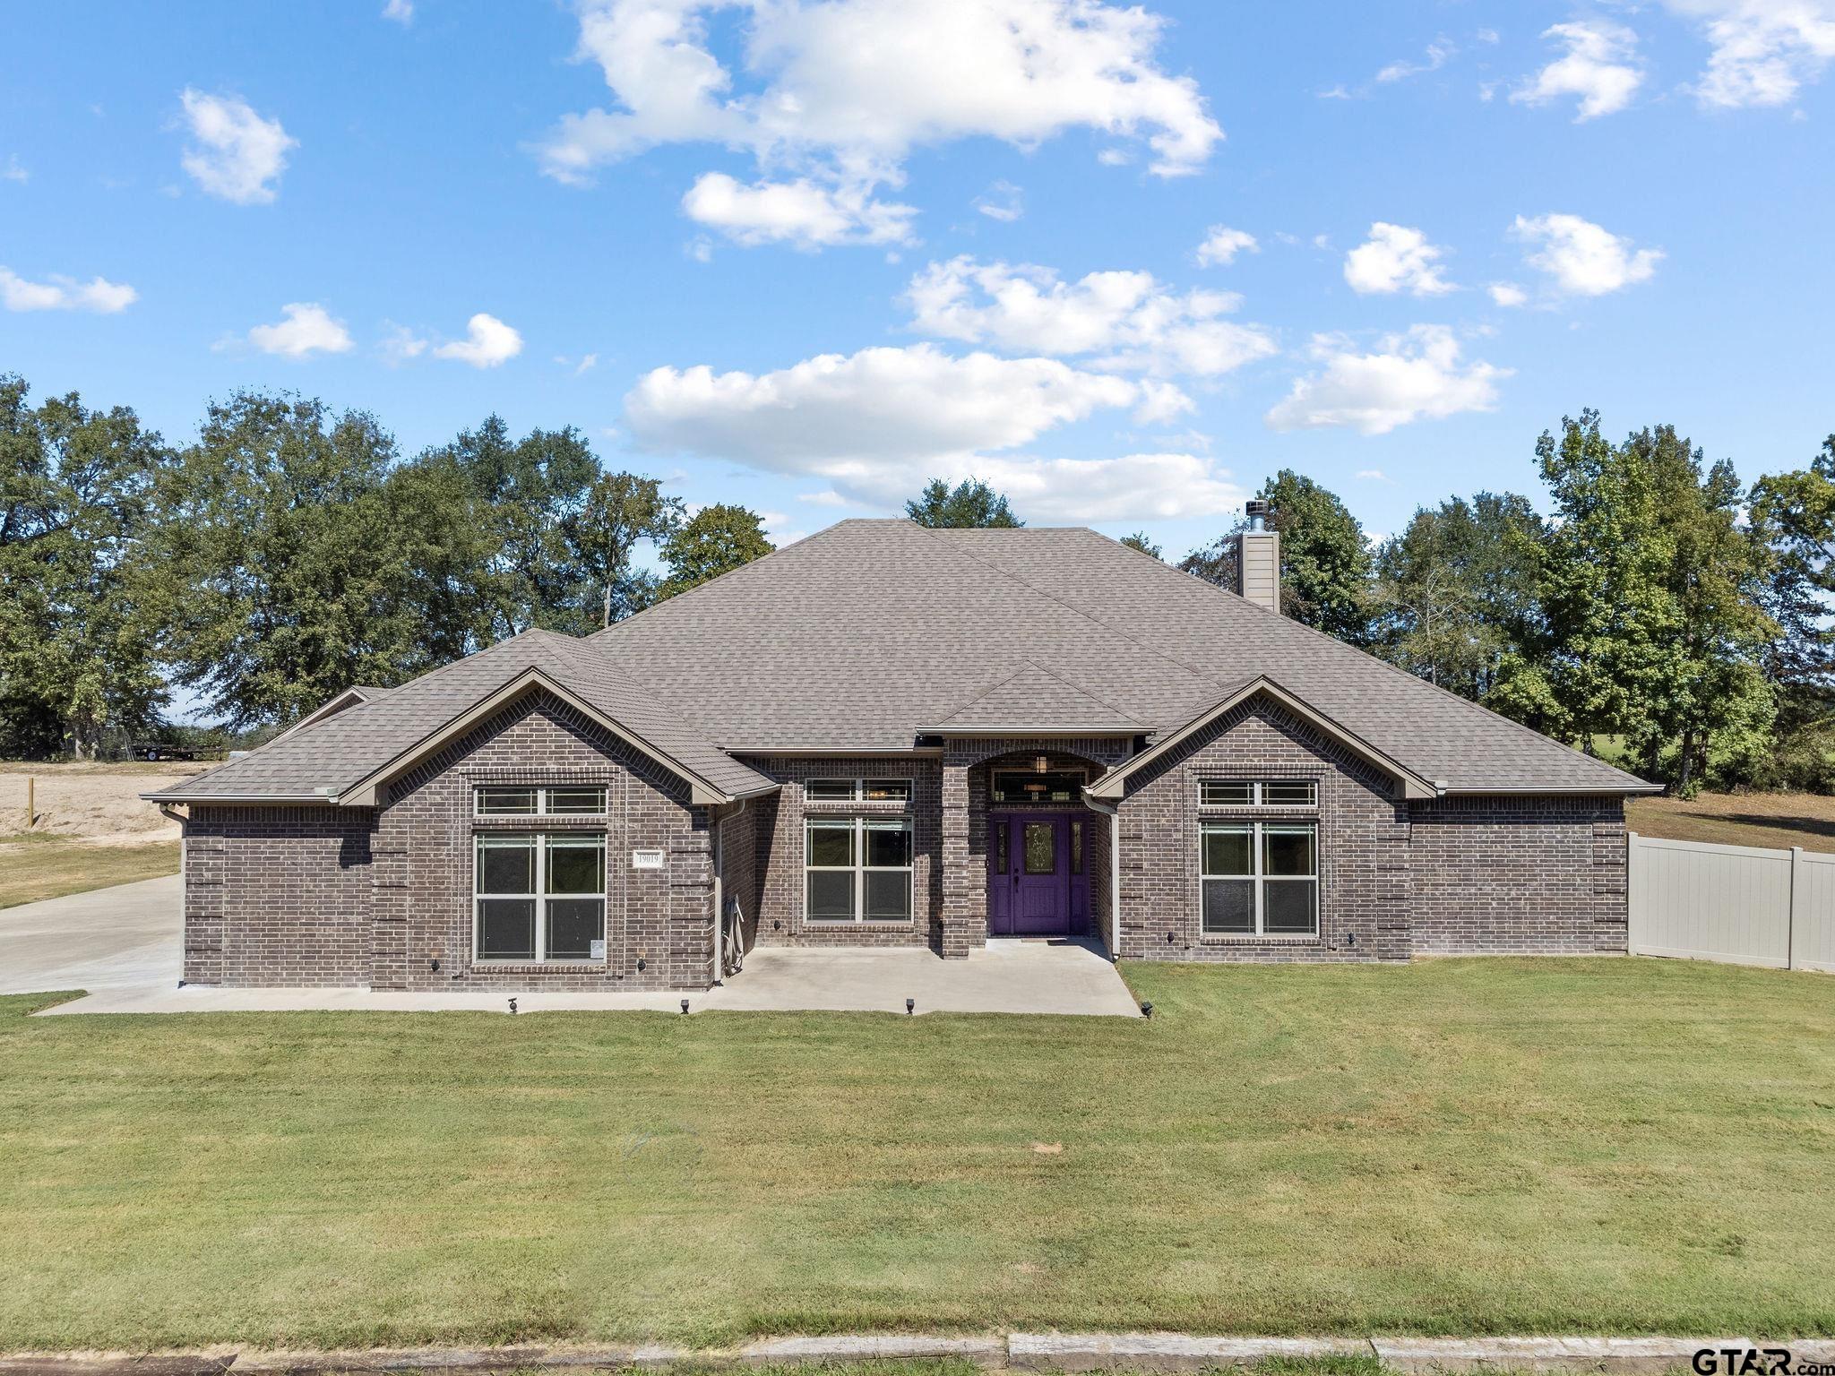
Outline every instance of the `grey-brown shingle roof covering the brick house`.
{"label": "grey-brown shingle roof covering the brick house", "polygon": [[1639,780],[1084,528],[842,521],[574,640],[528,631],[156,794],[338,796],[538,670],[727,794],[734,756],[930,730],[1158,736],[1268,677],[1451,793]]}

